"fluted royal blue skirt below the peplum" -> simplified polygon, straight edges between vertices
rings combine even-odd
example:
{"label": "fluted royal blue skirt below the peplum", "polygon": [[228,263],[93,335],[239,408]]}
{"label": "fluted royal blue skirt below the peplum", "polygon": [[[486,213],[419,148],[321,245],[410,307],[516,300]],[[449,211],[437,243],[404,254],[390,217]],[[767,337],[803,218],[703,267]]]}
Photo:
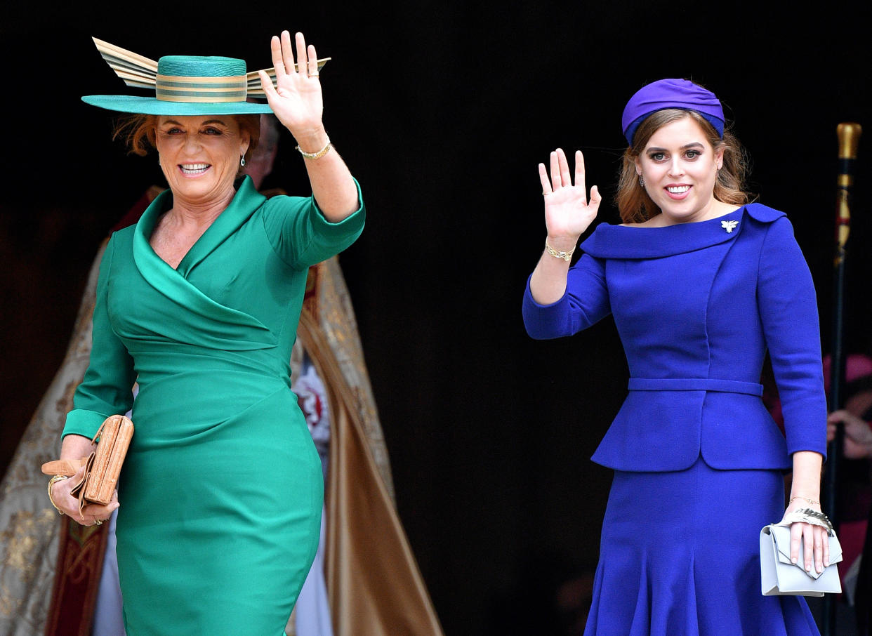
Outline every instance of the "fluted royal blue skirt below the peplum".
{"label": "fluted royal blue skirt below the peplum", "polygon": [[820,636],[802,597],[760,593],[779,471],[616,471],[585,636]]}

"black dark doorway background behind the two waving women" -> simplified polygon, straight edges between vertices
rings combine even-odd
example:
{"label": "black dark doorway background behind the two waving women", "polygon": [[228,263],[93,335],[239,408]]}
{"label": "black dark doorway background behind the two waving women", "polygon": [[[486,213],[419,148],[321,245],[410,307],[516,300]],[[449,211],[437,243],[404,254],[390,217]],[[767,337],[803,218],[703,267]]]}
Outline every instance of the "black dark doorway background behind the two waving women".
{"label": "black dark doorway background behind the two waving women", "polygon": [[[589,455],[627,371],[610,320],[557,342],[524,333],[521,292],[544,238],[536,163],[581,148],[589,185],[610,196],[626,99],[664,77],[708,85],[753,158],[751,189],[794,222],[828,349],[835,126],[872,133],[872,5],[792,6],[12,3],[0,18],[0,468],[64,355],[99,242],[160,182],[153,156],[127,157],[109,114],[78,99],[127,92],[90,36],[151,58],[241,57],[250,70],[271,65],[271,34],[300,30],[333,58],[325,122],[369,209],[342,265],[399,513],[446,633],[569,633],[555,590],[579,577],[583,588],[596,564],[610,472]],[[870,145],[848,351],[870,348]],[[308,194],[290,139],[268,185]]]}

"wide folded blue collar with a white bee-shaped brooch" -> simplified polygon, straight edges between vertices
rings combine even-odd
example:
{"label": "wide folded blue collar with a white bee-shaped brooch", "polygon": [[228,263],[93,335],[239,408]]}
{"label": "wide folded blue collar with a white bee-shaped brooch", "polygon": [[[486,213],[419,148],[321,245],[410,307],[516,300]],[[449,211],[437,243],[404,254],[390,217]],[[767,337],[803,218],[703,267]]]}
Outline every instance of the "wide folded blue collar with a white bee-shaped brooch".
{"label": "wide folded blue collar with a white bee-shaped brooch", "polygon": [[677,223],[661,228],[600,223],[581,248],[597,258],[662,258],[733,241],[741,234],[748,217],[770,223],[781,216],[784,213],[776,209],[749,203],[708,221]]}

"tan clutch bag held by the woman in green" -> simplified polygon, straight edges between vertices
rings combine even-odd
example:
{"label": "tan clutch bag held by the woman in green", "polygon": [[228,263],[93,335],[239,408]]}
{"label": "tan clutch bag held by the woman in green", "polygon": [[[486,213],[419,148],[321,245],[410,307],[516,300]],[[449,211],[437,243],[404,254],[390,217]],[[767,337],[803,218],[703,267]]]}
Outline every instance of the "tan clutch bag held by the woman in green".
{"label": "tan clutch bag held by the woman in green", "polygon": [[133,422],[124,415],[110,415],[100,424],[92,441],[97,448],[91,455],[79,460],[56,460],[43,464],[44,475],[72,477],[85,465],[85,476],[72,487],[72,496],[78,497],[78,511],[89,503],[106,505],[112,501],[121,465],[133,438]]}

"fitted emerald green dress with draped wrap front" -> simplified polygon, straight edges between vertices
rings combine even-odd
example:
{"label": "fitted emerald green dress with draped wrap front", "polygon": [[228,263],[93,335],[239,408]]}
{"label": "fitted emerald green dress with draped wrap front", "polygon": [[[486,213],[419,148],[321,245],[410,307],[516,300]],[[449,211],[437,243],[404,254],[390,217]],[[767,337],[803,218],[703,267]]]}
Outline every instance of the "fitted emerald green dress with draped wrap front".
{"label": "fitted emerald green dress with draped wrap front", "polygon": [[133,402],[117,527],[127,636],[276,636],[324,498],[290,349],[308,267],[353,243],[364,208],[330,223],[313,198],[268,200],[246,177],[174,270],[148,243],[171,206],[167,191],[112,235],[64,434],[91,437]]}

